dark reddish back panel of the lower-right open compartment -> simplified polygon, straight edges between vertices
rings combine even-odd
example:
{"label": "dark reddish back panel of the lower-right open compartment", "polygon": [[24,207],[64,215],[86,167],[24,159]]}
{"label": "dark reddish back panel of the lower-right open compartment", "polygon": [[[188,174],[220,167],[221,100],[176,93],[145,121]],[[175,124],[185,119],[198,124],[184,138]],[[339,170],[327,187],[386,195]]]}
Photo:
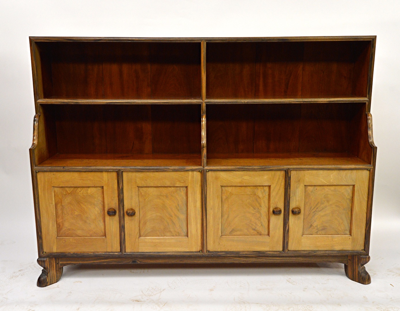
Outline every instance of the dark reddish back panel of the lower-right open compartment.
{"label": "dark reddish back panel of the lower-right open compartment", "polygon": [[207,152],[351,152],[362,103],[209,104]]}

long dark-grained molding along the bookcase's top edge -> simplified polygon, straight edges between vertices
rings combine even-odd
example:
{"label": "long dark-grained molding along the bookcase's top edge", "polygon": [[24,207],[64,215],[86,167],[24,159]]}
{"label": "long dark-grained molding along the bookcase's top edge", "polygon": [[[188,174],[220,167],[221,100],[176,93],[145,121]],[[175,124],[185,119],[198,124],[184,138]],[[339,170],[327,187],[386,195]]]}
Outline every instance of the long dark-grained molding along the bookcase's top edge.
{"label": "long dark-grained molding along the bookcase's top edge", "polygon": [[221,38],[125,38],[125,37],[29,37],[33,42],[51,41],[90,41],[90,42],[129,42],[129,41],[181,41],[181,42],[240,42],[240,41],[372,41],[376,36],[316,36],[316,37],[221,37]]}

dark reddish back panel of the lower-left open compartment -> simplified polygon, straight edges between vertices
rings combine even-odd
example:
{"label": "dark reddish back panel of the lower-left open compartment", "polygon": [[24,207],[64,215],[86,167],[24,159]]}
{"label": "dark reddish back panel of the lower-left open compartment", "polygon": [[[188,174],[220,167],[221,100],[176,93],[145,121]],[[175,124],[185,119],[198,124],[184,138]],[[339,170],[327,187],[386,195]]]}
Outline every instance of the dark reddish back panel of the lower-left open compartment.
{"label": "dark reddish back panel of the lower-left open compartment", "polygon": [[[200,105],[42,105],[59,154],[201,151]],[[50,130],[50,128],[49,128]]]}

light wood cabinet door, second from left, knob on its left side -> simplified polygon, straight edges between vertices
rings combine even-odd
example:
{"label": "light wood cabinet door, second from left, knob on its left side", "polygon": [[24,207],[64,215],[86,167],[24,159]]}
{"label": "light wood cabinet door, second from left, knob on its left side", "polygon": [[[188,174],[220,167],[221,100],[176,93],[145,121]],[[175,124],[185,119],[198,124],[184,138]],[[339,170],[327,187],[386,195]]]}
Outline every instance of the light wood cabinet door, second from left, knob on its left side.
{"label": "light wood cabinet door, second from left, knob on its left side", "polygon": [[124,172],[127,252],[201,250],[201,173]]}

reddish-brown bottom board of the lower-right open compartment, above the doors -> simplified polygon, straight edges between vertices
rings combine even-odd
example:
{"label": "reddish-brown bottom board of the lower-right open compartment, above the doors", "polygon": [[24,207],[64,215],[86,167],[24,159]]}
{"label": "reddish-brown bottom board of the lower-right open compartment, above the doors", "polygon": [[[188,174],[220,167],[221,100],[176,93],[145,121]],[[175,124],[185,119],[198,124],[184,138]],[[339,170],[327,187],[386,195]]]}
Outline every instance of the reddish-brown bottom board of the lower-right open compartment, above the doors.
{"label": "reddish-brown bottom board of the lower-right open compartment, above the doors", "polygon": [[207,154],[207,166],[366,165],[347,153]]}

